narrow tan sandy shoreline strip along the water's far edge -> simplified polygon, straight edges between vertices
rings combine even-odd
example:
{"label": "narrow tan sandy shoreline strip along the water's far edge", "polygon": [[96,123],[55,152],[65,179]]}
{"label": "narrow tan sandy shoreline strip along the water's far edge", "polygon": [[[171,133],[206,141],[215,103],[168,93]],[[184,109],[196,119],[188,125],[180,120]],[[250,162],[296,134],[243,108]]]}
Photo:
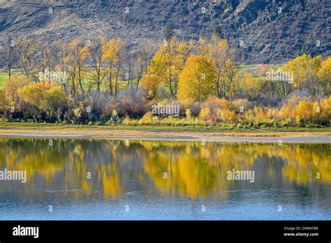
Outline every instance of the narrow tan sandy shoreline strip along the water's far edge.
{"label": "narrow tan sandy shoreline strip along the water's far edge", "polygon": [[331,143],[330,133],[195,133],[195,132],[142,132],[142,131],[59,131],[0,129],[3,138],[68,138],[97,140],[150,140],[150,141],[205,141],[257,143]]}

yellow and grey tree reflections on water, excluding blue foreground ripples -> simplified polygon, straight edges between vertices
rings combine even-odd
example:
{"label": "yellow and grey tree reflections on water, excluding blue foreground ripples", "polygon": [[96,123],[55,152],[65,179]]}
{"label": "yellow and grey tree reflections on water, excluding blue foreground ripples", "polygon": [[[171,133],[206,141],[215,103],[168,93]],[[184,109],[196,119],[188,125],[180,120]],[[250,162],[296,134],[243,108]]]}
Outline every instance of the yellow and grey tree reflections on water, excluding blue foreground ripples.
{"label": "yellow and grey tree reflections on water, excluding blue foreground ripples", "polygon": [[[330,147],[119,140],[53,140],[50,146],[2,138],[0,170],[26,170],[27,183],[0,181],[0,203],[8,195],[15,202],[106,202],[129,193],[237,202],[247,191],[267,191],[277,201],[284,196],[278,191],[289,191],[286,200],[294,206],[315,203],[330,215]],[[233,169],[253,170],[255,182],[228,180]]]}

